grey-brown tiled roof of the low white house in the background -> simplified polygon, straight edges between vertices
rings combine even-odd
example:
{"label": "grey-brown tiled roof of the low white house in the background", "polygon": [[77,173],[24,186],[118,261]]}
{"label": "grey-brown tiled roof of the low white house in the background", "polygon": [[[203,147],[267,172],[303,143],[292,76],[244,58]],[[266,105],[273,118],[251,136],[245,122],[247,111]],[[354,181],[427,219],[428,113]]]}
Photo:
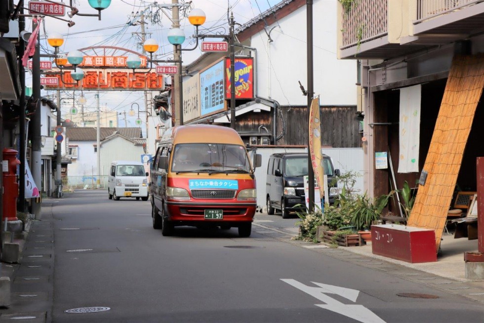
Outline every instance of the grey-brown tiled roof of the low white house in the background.
{"label": "grey-brown tiled roof of the low white house in the background", "polygon": [[[124,137],[130,139],[142,138],[141,128],[129,127],[129,128],[100,128],[100,138],[103,141],[106,137],[112,135],[115,131],[118,131]],[[95,127],[72,127],[66,128],[66,136],[69,138],[69,142],[72,141],[96,141],[97,140],[97,128]]]}

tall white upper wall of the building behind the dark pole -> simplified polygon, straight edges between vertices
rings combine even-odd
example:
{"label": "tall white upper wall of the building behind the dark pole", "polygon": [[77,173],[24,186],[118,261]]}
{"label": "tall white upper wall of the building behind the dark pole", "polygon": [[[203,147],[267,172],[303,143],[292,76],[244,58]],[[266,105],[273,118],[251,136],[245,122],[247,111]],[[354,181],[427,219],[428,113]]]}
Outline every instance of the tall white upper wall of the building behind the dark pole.
{"label": "tall white upper wall of the building behind the dark pole", "polygon": [[[321,105],[356,105],[356,60],[336,57],[336,2],[315,0],[313,5],[314,91]],[[308,89],[306,6],[266,29],[273,27],[273,42],[268,42],[264,31],[250,41],[257,48],[257,95],[281,105],[306,105],[298,83]]]}

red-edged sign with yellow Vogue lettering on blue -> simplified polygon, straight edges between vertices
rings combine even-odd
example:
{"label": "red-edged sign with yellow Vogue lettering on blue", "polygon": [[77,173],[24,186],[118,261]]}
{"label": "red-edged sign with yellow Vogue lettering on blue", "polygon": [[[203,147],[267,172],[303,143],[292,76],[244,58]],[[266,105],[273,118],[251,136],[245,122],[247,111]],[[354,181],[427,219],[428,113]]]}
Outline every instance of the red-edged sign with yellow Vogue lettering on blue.
{"label": "red-edged sign with yellow Vogue lettering on blue", "polygon": [[[235,98],[253,99],[254,97],[254,68],[252,57],[235,58]],[[226,95],[230,99],[230,58],[225,59],[225,78],[227,80]]]}

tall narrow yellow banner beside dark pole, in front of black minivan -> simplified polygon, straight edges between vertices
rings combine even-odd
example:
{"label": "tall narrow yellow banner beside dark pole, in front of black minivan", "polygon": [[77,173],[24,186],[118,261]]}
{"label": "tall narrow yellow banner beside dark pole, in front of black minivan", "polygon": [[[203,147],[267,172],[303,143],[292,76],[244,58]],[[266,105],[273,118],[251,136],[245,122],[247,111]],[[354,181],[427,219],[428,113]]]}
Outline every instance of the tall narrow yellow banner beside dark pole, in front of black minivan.
{"label": "tall narrow yellow banner beside dark pole, in front of black minivan", "polygon": [[[324,187],[324,164],[321,154],[321,120],[320,99],[314,98],[309,110],[309,152],[313,164],[314,178],[318,187]],[[316,193],[316,192],[315,192]],[[324,198],[324,190],[319,190],[321,201]],[[315,199],[316,200],[316,199]]]}

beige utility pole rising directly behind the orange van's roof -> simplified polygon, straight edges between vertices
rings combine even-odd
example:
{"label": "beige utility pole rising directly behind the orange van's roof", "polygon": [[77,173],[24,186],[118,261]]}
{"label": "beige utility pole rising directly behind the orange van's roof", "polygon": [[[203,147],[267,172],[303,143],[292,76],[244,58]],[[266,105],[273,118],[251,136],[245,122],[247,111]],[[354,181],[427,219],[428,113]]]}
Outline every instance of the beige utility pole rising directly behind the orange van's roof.
{"label": "beige utility pole rising directly behind the orange van's roof", "polygon": [[[179,15],[179,7],[178,7],[178,0],[171,0],[171,3],[174,4],[171,10],[173,24],[171,25],[172,28],[180,28],[180,15]],[[179,47],[178,47],[179,46]],[[181,45],[173,45],[173,52],[174,52],[174,61],[178,61],[178,73],[174,75],[174,83],[178,84],[177,86],[173,86],[173,96],[175,98],[175,125],[183,124],[183,78],[182,78],[182,62],[181,62]],[[171,84],[174,85],[174,84]]]}

